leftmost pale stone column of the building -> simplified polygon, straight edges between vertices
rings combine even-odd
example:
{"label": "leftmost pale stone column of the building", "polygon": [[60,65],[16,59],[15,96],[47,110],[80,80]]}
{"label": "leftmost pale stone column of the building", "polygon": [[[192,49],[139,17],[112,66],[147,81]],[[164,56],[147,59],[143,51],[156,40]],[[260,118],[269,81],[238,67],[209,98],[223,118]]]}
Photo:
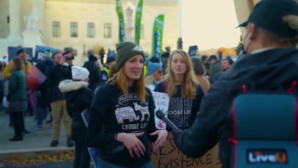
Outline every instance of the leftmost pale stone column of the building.
{"label": "leftmost pale stone column of the building", "polygon": [[20,0],[9,0],[9,36],[10,39],[21,39]]}

